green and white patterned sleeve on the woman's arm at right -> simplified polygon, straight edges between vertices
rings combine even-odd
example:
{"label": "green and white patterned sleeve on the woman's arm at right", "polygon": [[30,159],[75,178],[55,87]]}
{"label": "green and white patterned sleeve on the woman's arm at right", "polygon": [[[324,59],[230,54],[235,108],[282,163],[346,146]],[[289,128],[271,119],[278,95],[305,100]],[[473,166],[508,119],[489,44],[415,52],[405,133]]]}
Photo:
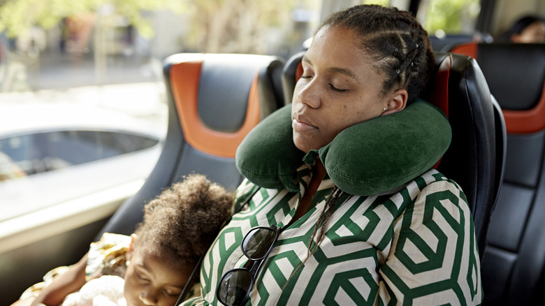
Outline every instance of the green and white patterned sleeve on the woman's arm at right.
{"label": "green and white patterned sleeve on the woman's arm at right", "polygon": [[[480,303],[479,252],[465,195],[436,170],[414,182],[419,180],[426,183],[412,186],[418,192],[393,226],[395,237],[381,268],[388,287],[405,299],[426,287],[430,294],[423,300],[452,300],[457,292],[468,305]],[[439,287],[442,291],[436,291]]]}

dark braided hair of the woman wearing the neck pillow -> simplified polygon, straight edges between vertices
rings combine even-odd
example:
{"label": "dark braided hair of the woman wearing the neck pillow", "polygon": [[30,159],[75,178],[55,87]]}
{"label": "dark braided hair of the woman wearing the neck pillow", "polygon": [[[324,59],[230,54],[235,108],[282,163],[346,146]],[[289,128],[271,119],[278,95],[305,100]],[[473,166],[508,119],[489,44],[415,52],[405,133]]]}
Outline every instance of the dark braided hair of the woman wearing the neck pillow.
{"label": "dark braided hair of the woman wearing the neck pillow", "polygon": [[385,76],[382,94],[407,89],[407,103],[423,94],[433,71],[428,33],[398,8],[361,5],[330,15],[319,27],[342,27],[361,37],[359,45]]}

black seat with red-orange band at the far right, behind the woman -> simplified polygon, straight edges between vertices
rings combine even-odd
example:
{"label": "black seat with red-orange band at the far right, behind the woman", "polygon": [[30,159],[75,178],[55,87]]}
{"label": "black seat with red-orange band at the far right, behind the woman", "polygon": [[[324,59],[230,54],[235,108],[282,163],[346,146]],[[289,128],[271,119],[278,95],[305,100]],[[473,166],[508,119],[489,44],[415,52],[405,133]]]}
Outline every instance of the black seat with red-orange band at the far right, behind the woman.
{"label": "black seat with red-orange band at the far right, behind the woman", "polygon": [[484,305],[544,305],[545,45],[464,44],[507,126],[505,176],[488,228]]}

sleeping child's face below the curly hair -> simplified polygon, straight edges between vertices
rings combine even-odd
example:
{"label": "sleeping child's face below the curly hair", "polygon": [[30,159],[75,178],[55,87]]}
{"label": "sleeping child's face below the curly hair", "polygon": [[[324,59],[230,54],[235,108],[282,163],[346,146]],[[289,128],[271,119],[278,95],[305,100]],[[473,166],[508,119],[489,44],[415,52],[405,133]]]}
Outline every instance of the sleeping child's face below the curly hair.
{"label": "sleeping child's face below the curly hair", "polygon": [[190,267],[177,267],[162,258],[133,249],[125,273],[127,306],[173,306],[191,274]]}

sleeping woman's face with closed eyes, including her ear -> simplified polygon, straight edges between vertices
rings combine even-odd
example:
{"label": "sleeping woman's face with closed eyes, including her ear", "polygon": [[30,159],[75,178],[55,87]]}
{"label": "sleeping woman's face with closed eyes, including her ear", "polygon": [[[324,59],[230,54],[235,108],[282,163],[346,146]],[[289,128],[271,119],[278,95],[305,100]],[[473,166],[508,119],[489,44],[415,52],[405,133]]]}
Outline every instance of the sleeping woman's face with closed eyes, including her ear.
{"label": "sleeping woman's face with closed eyes, including her ear", "polygon": [[299,150],[317,150],[349,126],[405,108],[407,91],[382,94],[384,76],[358,42],[354,32],[337,27],[323,27],[314,36],[291,106]]}

